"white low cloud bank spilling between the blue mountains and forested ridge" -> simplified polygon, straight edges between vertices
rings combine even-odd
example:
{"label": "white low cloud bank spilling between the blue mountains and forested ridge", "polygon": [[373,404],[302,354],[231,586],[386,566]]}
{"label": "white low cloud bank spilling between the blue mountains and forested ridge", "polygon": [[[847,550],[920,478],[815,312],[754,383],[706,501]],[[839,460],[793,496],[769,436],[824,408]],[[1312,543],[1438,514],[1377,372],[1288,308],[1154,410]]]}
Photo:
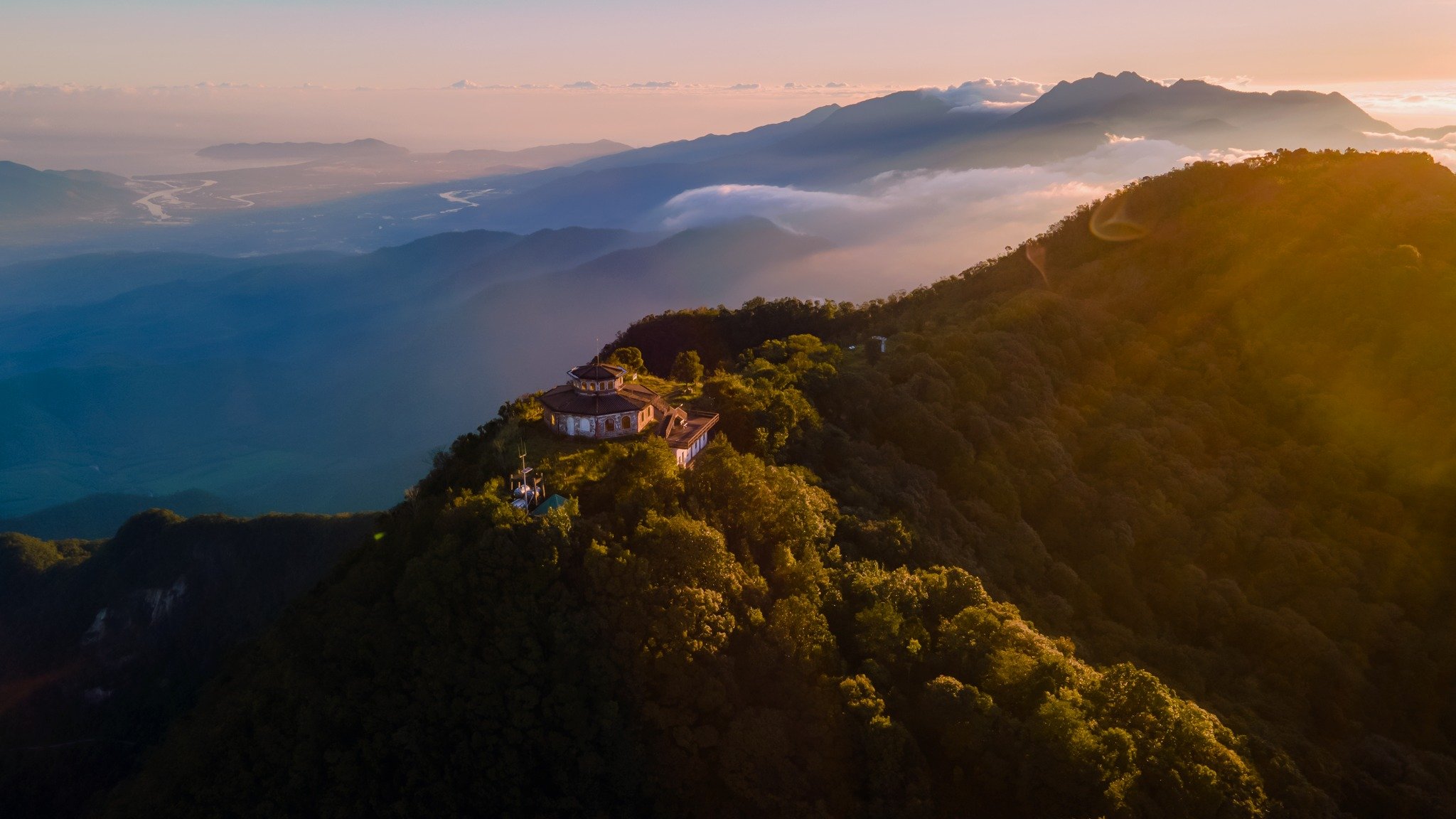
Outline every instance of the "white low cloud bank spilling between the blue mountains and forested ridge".
{"label": "white low cloud bank spilling between the blue mountains and forested ridge", "polygon": [[833,249],[770,271],[751,287],[766,296],[868,299],[958,273],[1131,179],[1185,162],[1241,162],[1255,153],[1200,153],[1165,140],[1109,136],[1092,152],[1045,166],[897,171],[842,191],[697,188],[664,205],[662,226],[763,217],[824,236]]}

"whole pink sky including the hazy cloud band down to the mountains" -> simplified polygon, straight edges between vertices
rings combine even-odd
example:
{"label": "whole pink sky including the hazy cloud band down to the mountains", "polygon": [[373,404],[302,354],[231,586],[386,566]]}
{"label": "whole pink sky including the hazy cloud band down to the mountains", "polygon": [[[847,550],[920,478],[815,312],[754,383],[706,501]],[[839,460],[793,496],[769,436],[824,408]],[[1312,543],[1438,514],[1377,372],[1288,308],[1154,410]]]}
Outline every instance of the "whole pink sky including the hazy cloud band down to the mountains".
{"label": "whole pink sky including the hazy cloud band down to the mountains", "polygon": [[1456,0],[0,0],[0,159],[124,173],[217,141],[652,144],[1121,70],[1456,122]]}

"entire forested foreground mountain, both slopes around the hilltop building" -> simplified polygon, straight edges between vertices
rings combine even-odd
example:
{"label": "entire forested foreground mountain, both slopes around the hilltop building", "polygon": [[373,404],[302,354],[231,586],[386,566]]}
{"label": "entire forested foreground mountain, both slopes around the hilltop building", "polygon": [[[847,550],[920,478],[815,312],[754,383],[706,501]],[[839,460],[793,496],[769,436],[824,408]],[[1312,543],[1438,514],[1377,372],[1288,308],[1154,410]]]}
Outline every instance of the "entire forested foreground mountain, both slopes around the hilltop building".
{"label": "entire forested foreground mountain, both slopes around the hilltop building", "polygon": [[692,469],[511,402],[102,813],[1456,815],[1453,309],[1456,176],[1296,152],[652,316]]}

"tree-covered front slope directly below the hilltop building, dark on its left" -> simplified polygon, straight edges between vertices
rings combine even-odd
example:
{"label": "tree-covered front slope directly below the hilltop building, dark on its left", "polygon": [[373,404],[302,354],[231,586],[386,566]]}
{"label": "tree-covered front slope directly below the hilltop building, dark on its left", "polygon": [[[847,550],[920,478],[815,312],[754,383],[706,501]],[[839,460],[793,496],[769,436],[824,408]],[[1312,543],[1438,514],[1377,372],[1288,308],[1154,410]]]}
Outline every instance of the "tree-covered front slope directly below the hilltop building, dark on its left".
{"label": "tree-covered front slope directly below the hilltop building, dark on its left", "polygon": [[1242,740],[1150,675],[1088,666],[964,571],[843,558],[836,530],[877,522],[807,472],[581,447],[547,465],[579,504],[531,519],[499,471],[539,407],[507,415],[108,815],[1264,810]]}

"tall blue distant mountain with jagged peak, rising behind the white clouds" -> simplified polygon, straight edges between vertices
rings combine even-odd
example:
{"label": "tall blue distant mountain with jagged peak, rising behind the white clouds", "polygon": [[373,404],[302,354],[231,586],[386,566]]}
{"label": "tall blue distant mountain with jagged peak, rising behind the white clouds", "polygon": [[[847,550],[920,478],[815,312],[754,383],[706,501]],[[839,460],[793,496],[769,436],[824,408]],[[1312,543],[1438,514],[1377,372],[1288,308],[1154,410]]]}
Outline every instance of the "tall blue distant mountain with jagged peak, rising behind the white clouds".
{"label": "tall blue distant mountain with jagged peak, rising behind the white clouds", "polygon": [[[514,230],[641,227],[655,208],[689,188],[839,189],[887,171],[1045,165],[1088,153],[1109,134],[1190,149],[1252,150],[1366,147],[1366,133],[1395,131],[1338,93],[1251,93],[1201,80],[1163,86],[1128,71],[1060,83],[1021,109],[965,111],[933,93],[898,92],[818,109],[798,124],[773,131],[769,140],[705,137],[713,141],[700,152],[693,150],[695,140],[671,153],[661,146],[638,149],[584,162],[571,173],[526,175],[513,181],[511,197],[482,201],[470,213],[451,214],[448,223]],[[392,203],[416,195],[371,197],[368,210],[390,213]]]}

